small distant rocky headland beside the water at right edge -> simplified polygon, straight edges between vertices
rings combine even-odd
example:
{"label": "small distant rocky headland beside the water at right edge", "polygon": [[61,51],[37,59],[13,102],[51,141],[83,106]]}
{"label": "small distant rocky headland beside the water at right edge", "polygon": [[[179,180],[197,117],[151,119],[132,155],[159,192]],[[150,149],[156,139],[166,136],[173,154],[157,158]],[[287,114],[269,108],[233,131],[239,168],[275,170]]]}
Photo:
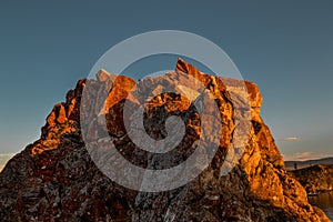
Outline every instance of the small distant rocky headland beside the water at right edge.
{"label": "small distant rocky headland beside the water at right edge", "polygon": [[310,168],[290,171],[307,193],[333,190],[333,165],[317,164]]}

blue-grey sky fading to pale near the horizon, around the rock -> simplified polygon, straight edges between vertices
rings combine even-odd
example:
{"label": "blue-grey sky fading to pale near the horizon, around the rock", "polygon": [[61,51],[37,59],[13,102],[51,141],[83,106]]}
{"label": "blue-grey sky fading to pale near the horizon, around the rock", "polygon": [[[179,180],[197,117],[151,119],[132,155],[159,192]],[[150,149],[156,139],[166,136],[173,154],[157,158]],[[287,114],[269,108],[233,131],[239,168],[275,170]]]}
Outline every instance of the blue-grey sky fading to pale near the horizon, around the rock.
{"label": "blue-grey sky fading to pale near the horizon, around the rock", "polygon": [[53,104],[109,48],[172,29],[213,41],[259,84],[287,159],[333,155],[332,11],[324,0],[1,1],[0,153],[38,139]]}

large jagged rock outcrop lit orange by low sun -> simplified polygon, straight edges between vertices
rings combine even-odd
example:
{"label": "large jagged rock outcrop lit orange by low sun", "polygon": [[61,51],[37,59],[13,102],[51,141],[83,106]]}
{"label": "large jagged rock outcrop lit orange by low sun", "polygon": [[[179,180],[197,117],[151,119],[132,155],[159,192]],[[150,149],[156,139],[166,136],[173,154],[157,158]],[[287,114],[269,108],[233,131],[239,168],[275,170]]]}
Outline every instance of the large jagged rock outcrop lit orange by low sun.
{"label": "large jagged rock outcrop lit orange by low sun", "polygon": [[[159,169],[159,164],[151,163],[164,159],[137,148],[129,139],[122,121],[124,100],[135,107],[144,101],[135,95],[133,88],[152,91],[144,128],[153,139],[167,137],[168,117],[178,114],[183,119],[185,138],[167,161],[170,167],[179,164],[193,152],[191,145],[200,137],[202,124],[192,105],[195,92],[189,93],[189,98],[159,93],[165,85],[162,82],[176,88],[186,81],[179,72],[201,81],[219,105],[223,139],[213,161],[192,182],[172,191],[147,193],[118,185],[99,171],[84,148],[80,103],[87,81],[92,87],[91,95],[108,97],[87,108],[98,109],[99,114],[84,117],[90,120],[84,125],[85,142],[108,149],[100,138],[111,137],[115,149],[133,164]],[[111,90],[105,90],[110,85]],[[175,72],[139,83],[103,70],[97,80],[80,80],[68,92],[65,102],[54,105],[40,140],[12,158],[1,172],[0,218],[2,221],[329,221],[321,210],[309,204],[305,190],[284,170],[283,159],[260,117],[262,98],[258,87],[248,81],[244,85],[250,105],[244,103],[240,80],[206,75],[182,60]],[[251,113],[250,135],[239,163],[223,174],[226,153],[235,149],[231,142],[236,124],[233,108]],[[98,127],[101,118],[107,120],[107,131]]]}

